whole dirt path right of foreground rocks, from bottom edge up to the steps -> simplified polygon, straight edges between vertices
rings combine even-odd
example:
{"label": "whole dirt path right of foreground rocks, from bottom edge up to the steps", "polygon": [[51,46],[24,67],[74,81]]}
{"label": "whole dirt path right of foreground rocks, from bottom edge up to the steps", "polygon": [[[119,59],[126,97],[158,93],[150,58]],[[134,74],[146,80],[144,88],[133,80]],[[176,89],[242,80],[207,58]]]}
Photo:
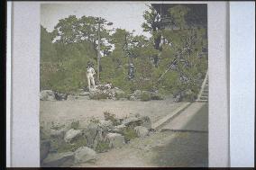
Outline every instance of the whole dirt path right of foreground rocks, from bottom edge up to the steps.
{"label": "whole dirt path right of foreground rocks, from bottom edge up to the steps", "polygon": [[[78,167],[207,167],[208,133],[207,105],[194,103],[164,128],[146,138],[131,140],[123,148],[114,148],[97,155],[94,163],[75,165]],[[193,114],[193,117],[186,118]],[[181,121],[182,120],[182,121]],[[177,123],[180,126],[177,126]],[[174,126],[172,126],[174,125]],[[195,131],[206,130],[206,132]],[[179,131],[187,130],[187,131]]]}

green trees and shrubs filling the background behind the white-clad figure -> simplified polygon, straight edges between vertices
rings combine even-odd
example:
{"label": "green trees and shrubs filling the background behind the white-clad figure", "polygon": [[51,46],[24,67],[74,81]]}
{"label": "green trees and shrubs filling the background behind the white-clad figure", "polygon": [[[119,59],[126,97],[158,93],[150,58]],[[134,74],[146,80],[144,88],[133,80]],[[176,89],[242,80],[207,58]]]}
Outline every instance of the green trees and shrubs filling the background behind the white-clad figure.
{"label": "green trees and shrubs filling the background behind the white-clad figure", "polygon": [[[127,94],[137,89],[158,90],[161,94],[185,93],[187,99],[194,99],[207,70],[206,27],[191,24],[189,6],[177,4],[168,10],[176,29],[166,29],[157,11],[149,7],[142,28],[151,33],[150,38],[110,30],[111,21],[94,16],[70,15],[51,32],[41,26],[41,90],[71,94],[87,87],[87,62],[96,68],[100,21],[101,84],[111,83]],[[133,79],[128,78],[131,63]]]}

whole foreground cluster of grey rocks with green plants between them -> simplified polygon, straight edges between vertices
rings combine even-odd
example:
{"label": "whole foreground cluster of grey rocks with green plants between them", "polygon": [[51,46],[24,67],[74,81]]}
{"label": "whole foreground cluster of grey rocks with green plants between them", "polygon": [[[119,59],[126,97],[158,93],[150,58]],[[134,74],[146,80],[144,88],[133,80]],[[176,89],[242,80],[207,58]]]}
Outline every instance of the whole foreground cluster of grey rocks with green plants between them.
{"label": "whole foreground cluster of grey rocks with green plants between them", "polygon": [[50,135],[48,139],[41,139],[41,166],[72,166],[95,161],[96,153],[122,148],[130,139],[148,136],[150,130],[151,120],[147,116],[130,115],[121,119],[109,112],[105,113],[105,120],[79,121],[76,129],[69,125],[48,132],[42,130],[41,136]]}

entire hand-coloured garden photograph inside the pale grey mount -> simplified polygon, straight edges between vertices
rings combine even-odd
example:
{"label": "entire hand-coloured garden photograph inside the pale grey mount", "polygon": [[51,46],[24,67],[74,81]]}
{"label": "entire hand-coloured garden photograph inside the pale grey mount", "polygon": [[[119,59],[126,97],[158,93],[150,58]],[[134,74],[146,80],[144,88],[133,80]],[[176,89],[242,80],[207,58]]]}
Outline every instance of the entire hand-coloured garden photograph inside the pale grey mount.
{"label": "entire hand-coloured garden photograph inside the pale grey mount", "polygon": [[207,167],[207,4],[41,4],[41,167]]}

